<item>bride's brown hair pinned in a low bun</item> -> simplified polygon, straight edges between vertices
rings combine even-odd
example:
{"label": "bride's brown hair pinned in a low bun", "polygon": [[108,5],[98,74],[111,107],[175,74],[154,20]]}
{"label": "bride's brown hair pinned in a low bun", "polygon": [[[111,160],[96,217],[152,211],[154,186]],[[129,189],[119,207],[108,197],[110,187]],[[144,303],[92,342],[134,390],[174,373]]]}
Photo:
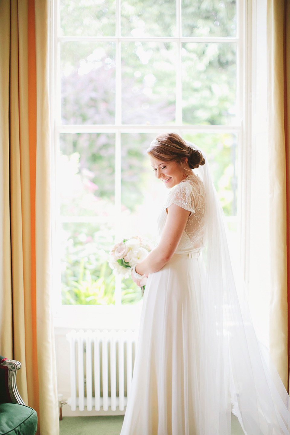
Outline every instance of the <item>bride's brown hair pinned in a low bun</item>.
{"label": "bride's brown hair pinned in a low bun", "polygon": [[177,161],[183,164],[183,158],[187,157],[187,163],[190,169],[205,164],[203,155],[199,150],[194,150],[187,145],[179,134],[165,133],[160,134],[151,142],[147,153],[157,160]]}

